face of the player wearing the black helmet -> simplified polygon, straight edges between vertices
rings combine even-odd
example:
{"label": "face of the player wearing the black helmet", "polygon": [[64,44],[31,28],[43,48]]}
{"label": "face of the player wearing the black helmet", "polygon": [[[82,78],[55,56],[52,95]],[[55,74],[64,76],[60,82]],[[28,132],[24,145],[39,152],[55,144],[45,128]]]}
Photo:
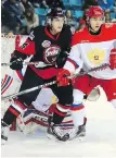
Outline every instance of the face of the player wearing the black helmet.
{"label": "face of the player wearing the black helmet", "polygon": [[63,28],[64,17],[55,17],[52,20],[52,29],[55,34],[60,33]]}

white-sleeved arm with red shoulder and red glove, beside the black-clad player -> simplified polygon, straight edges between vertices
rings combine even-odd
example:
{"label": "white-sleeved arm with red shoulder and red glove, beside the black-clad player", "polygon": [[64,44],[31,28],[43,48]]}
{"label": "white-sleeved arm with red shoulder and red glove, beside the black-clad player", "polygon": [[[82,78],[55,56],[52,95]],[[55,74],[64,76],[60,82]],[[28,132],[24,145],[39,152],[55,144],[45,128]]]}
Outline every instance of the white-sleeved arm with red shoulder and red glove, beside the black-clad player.
{"label": "white-sleeved arm with red shoulder and red glove, beside the black-clad player", "polygon": [[75,34],[72,40],[72,49],[69,56],[64,64],[63,69],[57,73],[57,82],[60,86],[66,86],[69,84],[67,76],[78,73],[82,68],[82,60],[80,58],[79,42]]}

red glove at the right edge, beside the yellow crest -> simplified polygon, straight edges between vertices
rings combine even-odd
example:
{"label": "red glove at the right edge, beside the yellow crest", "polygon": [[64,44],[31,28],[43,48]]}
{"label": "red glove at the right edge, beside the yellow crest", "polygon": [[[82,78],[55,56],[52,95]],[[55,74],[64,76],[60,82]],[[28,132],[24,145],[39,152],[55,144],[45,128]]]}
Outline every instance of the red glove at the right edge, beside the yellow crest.
{"label": "red glove at the right edge, beside the yellow crest", "polygon": [[109,54],[109,68],[112,70],[116,69],[116,48],[111,50],[111,54]]}

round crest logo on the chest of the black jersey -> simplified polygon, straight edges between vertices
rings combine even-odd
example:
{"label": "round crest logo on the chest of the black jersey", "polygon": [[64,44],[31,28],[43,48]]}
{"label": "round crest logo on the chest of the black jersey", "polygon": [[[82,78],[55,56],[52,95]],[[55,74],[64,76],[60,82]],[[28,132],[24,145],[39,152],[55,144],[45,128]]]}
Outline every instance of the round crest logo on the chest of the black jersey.
{"label": "round crest logo on the chest of the black jersey", "polygon": [[55,63],[60,51],[61,51],[61,49],[59,46],[51,46],[49,48],[46,48],[43,51],[44,62],[49,63],[49,64]]}

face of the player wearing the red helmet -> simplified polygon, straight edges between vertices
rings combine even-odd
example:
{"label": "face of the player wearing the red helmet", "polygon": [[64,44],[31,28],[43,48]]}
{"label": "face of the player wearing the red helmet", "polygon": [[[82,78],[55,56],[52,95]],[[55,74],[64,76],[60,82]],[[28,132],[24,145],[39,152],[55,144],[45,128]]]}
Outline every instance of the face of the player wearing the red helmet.
{"label": "face of the player wearing the red helmet", "polygon": [[90,19],[90,26],[94,32],[98,32],[103,23],[102,17],[91,17]]}

